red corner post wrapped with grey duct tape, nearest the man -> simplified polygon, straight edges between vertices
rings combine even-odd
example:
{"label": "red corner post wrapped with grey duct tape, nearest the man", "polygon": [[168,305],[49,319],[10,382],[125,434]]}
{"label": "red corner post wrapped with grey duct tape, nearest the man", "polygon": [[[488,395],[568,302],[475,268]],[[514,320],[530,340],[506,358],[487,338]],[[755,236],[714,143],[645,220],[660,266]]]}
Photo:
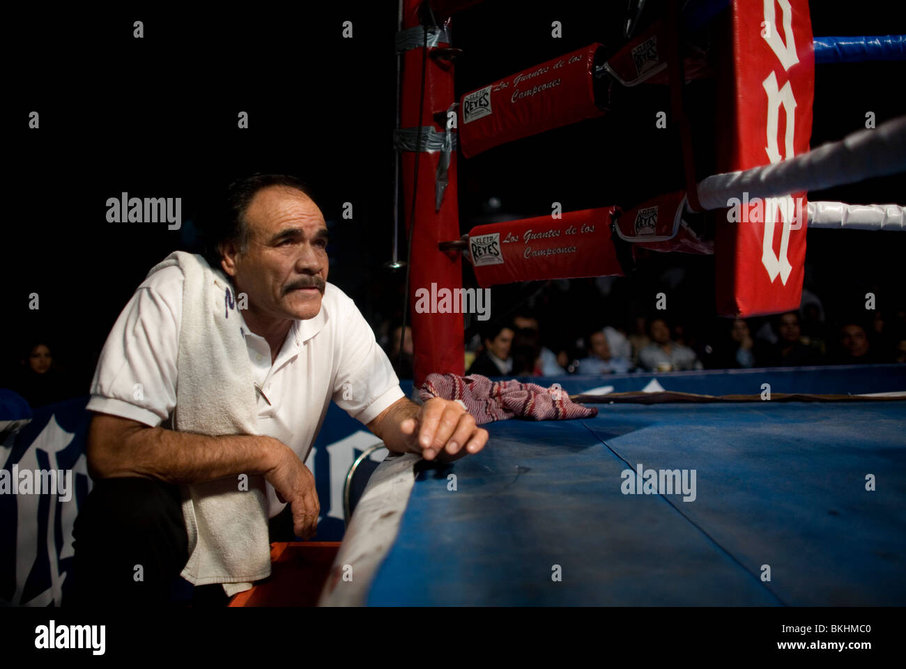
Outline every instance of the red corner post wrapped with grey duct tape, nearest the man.
{"label": "red corner post wrapped with grey duct tape, nearest the man", "polygon": [[[402,29],[419,25],[419,6],[422,0],[403,0]],[[438,22],[442,17],[438,15]],[[429,42],[430,44],[430,42]],[[449,46],[445,42],[429,46],[429,57],[425,69],[424,107],[419,110],[421,92],[421,59],[423,49],[407,49],[402,53],[400,74],[400,128],[433,128],[442,133],[447,130],[446,118],[454,102],[453,65],[450,61],[430,57],[433,48]],[[437,114],[437,119],[435,119]],[[439,122],[440,121],[440,122]],[[454,130],[454,133],[456,131]],[[424,141],[424,132],[423,141]],[[463,315],[460,313],[431,313],[434,302],[445,307],[457,305],[455,298],[441,303],[429,297],[427,310],[417,308],[419,289],[428,295],[438,295],[447,288],[453,296],[462,288],[462,259],[458,251],[438,250],[440,241],[458,239],[459,208],[457,202],[457,151],[453,150],[448,168],[448,186],[444,192],[439,210],[435,210],[436,180],[440,153],[422,151],[419,157],[419,183],[415,198],[415,229],[412,233],[410,253],[409,309],[414,346],[414,377],[418,387],[429,373],[463,374],[465,369],[465,345],[463,343]],[[415,152],[403,151],[402,195],[406,235],[409,236],[412,217],[412,185],[415,170]],[[432,284],[435,286],[432,289]],[[421,293],[419,293],[421,295]],[[422,300],[422,305],[426,301]]]}

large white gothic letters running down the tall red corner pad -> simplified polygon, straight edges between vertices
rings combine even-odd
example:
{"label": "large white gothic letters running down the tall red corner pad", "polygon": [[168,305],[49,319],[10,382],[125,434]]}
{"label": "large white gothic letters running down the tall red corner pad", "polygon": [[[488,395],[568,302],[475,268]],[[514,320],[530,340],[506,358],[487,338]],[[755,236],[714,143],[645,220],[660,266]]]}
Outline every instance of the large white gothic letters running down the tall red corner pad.
{"label": "large white gothic letters running down the tall red corner pad", "polygon": [[[771,51],[774,52],[777,60],[780,61],[780,64],[783,65],[784,71],[786,72],[786,70],[789,70],[795,63],[799,62],[799,57],[796,55],[795,51],[795,35],[793,34],[793,8],[790,6],[789,0],[776,1],[779,3],[780,9],[783,12],[782,20],[786,43],[780,37],[779,31],[776,30],[776,16],[774,11],[775,0],[765,0],[765,21],[769,25],[774,25],[775,28],[766,31],[766,34],[763,33],[762,37],[768,46],[771,47]],[[767,75],[765,81],[762,82],[761,85],[767,94],[767,122],[765,129],[767,146],[765,147],[765,150],[767,152],[767,160],[770,160],[771,164],[775,164],[785,158],[793,158],[795,155],[795,95],[793,94],[793,87],[789,81],[787,81],[782,88],[777,87],[777,76],[773,71]],[[777,141],[781,105],[783,105],[784,111],[786,112],[784,155],[780,154]],[[790,264],[789,258],[787,257],[787,250],[789,247],[790,230],[794,229],[792,228],[792,225],[795,209],[795,202],[793,198],[788,195],[783,198],[767,198],[765,200],[765,228],[762,233],[761,264],[767,270],[767,276],[770,277],[772,284],[774,283],[774,279],[776,279],[777,276],[780,276],[781,283],[786,286],[786,280],[793,271],[793,266]],[[801,203],[798,211],[800,212],[800,216],[795,219],[795,229],[801,228],[803,223]],[[778,215],[782,229],[780,234],[780,251],[778,254],[775,254],[774,224],[777,222]]]}

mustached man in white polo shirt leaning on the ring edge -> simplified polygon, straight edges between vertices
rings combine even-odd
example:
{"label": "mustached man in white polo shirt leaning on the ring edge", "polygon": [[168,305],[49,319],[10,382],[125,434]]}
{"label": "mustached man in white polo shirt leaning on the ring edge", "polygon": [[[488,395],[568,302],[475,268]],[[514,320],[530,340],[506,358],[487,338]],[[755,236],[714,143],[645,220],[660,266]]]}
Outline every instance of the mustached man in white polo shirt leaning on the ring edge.
{"label": "mustached man in white polo shirt leaning on the ring edge", "polygon": [[[455,459],[487,442],[460,403],[419,406],[404,397],[371,327],[327,283],[327,228],[304,183],[284,175],[236,181],[217,220],[224,228],[208,260],[230,283],[227,316],[231,297],[247,297],[231,323],[245,337],[258,434],[174,429],[180,326],[194,305],[183,305],[180,264],[156,268],[113,326],[92,381],[95,486],[73,533],[77,603],[169,601],[191,552],[180,486],[260,474],[272,532],[284,519],[296,535],[313,537],[320,509],[304,460],[332,400],[390,451]],[[217,603],[230,587],[247,587],[227,580],[217,579],[225,584]]]}

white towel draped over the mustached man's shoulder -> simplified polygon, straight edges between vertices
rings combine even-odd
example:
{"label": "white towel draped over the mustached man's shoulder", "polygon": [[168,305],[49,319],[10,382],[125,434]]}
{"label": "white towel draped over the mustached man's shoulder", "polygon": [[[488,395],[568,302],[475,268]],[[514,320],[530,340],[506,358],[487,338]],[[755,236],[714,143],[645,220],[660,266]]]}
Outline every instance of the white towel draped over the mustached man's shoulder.
{"label": "white towel draped over the mustached man's shoulder", "polygon": [[[233,286],[198,255],[175,251],[151,268],[185,275],[173,426],[199,434],[258,434],[255,383]],[[270,576],[265,478],[248,475],[183,485],[189,558],[181,576],[224,584],[227,595]]]}

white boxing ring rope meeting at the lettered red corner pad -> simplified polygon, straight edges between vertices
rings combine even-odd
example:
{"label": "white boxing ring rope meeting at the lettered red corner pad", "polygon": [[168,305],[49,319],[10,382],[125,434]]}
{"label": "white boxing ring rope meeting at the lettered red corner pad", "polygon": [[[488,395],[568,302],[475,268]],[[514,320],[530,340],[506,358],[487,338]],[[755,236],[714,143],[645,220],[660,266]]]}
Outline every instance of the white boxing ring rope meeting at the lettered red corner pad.
{"label": "white boxing ring rope meeting at the lettered red corner pad", "polygon": [[[823,144],[794,158],[702,179],[698,187],[699,202],[705,209],[726,208],[730,199],[743,199],[744,192],[748,199],[776,198],[901,171],[906,171],[906,116],[872,130],[853,132],[841,141]],[[821,204],[828,206],[809,205],[809,218],[815,221],[813,227],[904,229],[902,208],[896,205],[859,208],[841,203]],[[836,225],[834,215],[839,217]]]}

